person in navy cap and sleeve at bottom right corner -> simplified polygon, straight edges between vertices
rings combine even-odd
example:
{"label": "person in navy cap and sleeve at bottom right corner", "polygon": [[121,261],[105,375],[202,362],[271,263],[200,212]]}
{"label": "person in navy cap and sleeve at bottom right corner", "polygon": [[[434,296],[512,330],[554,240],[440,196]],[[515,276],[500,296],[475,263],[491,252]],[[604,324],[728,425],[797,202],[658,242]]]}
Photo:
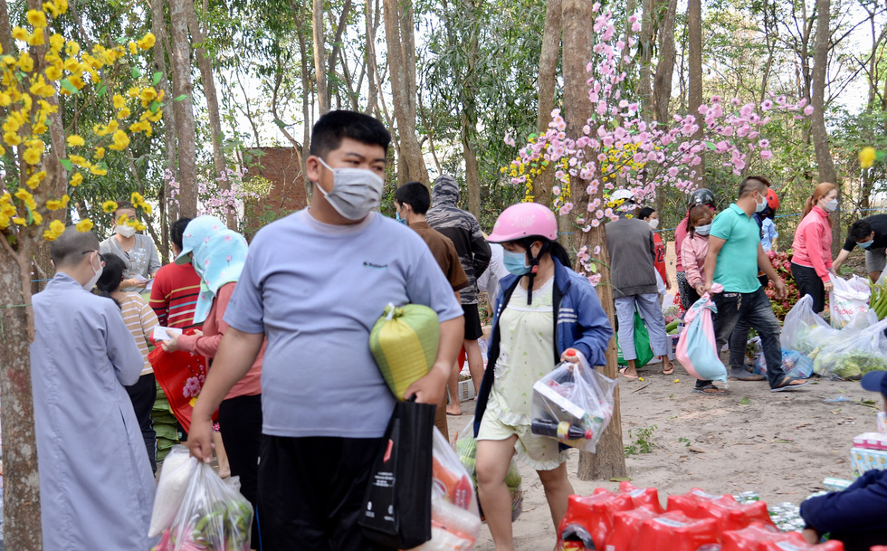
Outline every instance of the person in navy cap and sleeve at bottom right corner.
{"label": "person in navy cap and sleeve at bottom right corner", "polygon": [[[863,388],[881,393],[887,411],[887,372],[863,375]],[[810,545],[829,534],[845,551],[868,551],[887,545],[887,470],[867,470],[847,489],[807,499],[801,504],[806,527],[802,534]]]}

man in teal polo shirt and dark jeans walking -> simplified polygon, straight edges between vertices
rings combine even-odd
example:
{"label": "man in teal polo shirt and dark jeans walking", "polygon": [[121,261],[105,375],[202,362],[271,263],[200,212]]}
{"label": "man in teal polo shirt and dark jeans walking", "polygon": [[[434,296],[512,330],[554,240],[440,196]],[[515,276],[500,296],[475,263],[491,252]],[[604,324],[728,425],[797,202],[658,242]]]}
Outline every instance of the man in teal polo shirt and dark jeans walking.
{"label": "man in teal polo shirt and dark jeans walking", "polygon": [[[761,248],[760,229],[751,217],[766,206],[767,185],[764,180],[754,176],[742,180],[739,199],[718,214],[711,226],[703,292],[708,292],[713,283],[720,283],[724,288],[723,292],[712,296],[718,308],[714,316],[718,350],[723,348],[738,325],[740,328],[754,328],[764,348],[770,390],[781,392],[806,385],[806,381],[789,377],[782,370],[782,347],[779,343],[782,327],[773,315],[770,300],[758,281],[760,268],[773,280],[777,299],[785,298],[786,285],[777,276]],[[739,334],[746,332],[739,331]],[[730,346],[730,378],[749,380],[751,377],[744,365],[745,343]],[[711,381],[697,381],[693,390],[701,394],[725,394]]]}

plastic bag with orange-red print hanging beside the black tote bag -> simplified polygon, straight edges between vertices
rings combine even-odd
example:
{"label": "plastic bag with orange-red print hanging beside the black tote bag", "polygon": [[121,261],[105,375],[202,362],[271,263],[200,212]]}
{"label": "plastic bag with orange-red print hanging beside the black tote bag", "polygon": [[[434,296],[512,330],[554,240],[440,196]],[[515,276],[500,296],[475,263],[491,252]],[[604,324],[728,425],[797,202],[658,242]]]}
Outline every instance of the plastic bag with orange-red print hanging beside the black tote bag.
{"label": "plastic bag with orange-red print hanging beside the black tote bag", "polygon": [[472,477],[444,435],[434,429],[431,539],[416,551],[468,551],[481,533]]}

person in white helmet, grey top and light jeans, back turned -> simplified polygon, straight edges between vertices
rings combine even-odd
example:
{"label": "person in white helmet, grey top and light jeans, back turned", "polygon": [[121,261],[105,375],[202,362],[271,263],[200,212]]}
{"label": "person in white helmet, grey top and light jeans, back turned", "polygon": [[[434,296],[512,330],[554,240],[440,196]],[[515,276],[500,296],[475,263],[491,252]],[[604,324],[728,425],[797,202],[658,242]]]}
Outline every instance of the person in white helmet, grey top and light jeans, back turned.
{"label": "person in white helmet, grey top and light jeans, back turned", "polygon": [[617,190],[610,200],[620,203],[619,220],[608,222],[606,229],[606,249],[610,253],[610,282],[613,286],[616,319],[618,319],[619,347],[628,366],[619,373],[628,378],[637,378],[634,360],[634,312],[641,313],[650,334],[650,345],[655,356],[663,358],[663,374],[674,372],[672,360],[668,358],[671,341],[665,331],[663,309],[659,305],[659,290],[656,285],[656,243],[650,225],[634,218],[636,205],[634,194],[626,189]]}

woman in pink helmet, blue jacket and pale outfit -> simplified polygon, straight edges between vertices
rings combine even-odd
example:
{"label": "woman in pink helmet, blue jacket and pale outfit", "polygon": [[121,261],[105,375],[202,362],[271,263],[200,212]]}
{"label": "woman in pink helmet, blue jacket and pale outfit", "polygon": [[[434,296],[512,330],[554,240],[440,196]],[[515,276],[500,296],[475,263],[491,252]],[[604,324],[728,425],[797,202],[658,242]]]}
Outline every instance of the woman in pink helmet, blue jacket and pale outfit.
{"label": "woman in pink helmet, blue jacket and pale outfit", "polygon": [[533,384],[567,357],[604,365],[613,337],[594,288],[568,268],[569,255],[557,239],[555,215],[535,203],[505,209],[488,238],[502,244],[510,271],[500,281],[489,364],[474,413],[478,494],[497,551],[513,548],[505,476],[515,453],[539,473],[556,528],[573,492],[567,448],[530,433]]}

